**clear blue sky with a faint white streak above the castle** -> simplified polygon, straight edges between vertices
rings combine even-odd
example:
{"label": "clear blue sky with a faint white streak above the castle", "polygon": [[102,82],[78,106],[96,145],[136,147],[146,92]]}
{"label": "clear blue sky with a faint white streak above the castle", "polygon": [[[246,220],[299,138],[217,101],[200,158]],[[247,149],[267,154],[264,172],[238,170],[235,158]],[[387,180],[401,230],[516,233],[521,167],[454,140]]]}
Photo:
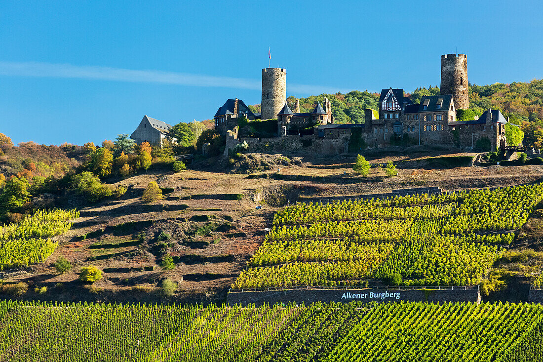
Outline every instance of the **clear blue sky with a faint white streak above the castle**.
{"label": "clear blue sky with a faint white streak above the castle", "polygon": [[439,85],[441,54],[476,84],[543,78],[540,1],[0,2],[0,132],[15,143],[130,134],[144,114],[211,118],[287,95]]}

